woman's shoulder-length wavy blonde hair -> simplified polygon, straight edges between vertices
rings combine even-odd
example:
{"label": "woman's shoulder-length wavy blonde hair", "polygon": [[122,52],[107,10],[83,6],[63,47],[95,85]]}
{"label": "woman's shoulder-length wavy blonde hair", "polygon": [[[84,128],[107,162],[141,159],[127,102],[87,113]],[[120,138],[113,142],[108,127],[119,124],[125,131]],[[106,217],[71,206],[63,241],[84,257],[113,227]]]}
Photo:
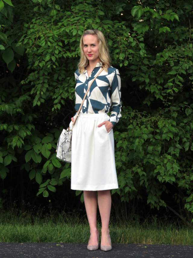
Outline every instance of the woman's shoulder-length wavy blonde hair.
{"label": "woman's shoulder-length wavy blonde hair", "polygon": [[87,31],[84,31],[84,33],[81,37],[81,41],[80,41],[81,59],[80,59],[80,62],[78,63],[78,72],[83,73],[85,67],[87,67],[87,65],[89,64],[89,61],[83,51],[83,46],[84,46],[83,38],[86,35],[96,35],[96,37],[98,38],[99,58],[102,61],[102,66],[103,66],[104,70],[107,71],[107,68],[109,68],[109,66],[111,66],[111,58],[109,55],[109,49],[107,47],[106,38],[103,35],[103,33],[99,30],[87,30]]}

